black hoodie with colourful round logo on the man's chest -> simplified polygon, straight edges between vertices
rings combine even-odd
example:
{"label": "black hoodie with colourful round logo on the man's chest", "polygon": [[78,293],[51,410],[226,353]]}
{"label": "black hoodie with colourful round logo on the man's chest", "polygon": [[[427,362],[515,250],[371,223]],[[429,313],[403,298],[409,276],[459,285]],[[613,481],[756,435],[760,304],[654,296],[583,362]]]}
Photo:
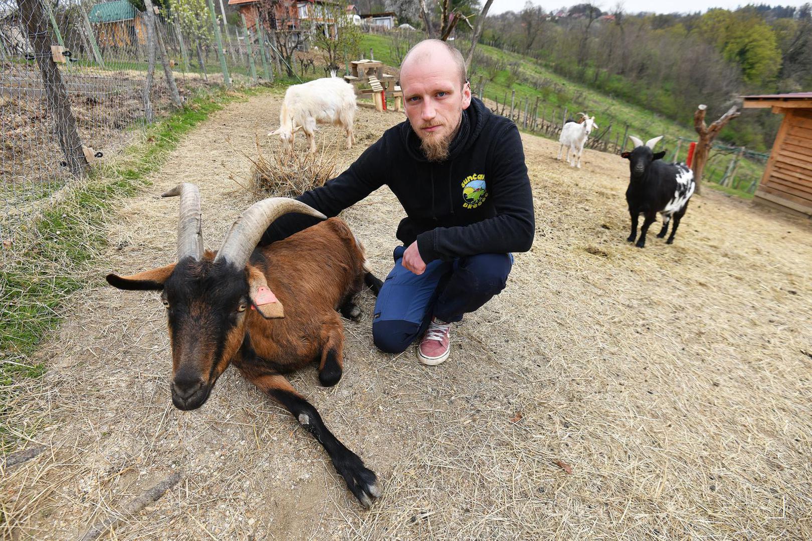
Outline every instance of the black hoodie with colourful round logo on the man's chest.
{"label": "black hoodie with colourful round logo on the man's chest", "polygon": [[[407,120],[384,132],[348,170],[296,199],[333,217],[383,184],[406,211],[397,238],[407,247],[417,240],[425,263],[528,251],[533,243],[533,195],[519,130],[476,98],[463,111],[446,161],[426,159]],[[288,214],[266,230],[261,244],[316,222]]]}

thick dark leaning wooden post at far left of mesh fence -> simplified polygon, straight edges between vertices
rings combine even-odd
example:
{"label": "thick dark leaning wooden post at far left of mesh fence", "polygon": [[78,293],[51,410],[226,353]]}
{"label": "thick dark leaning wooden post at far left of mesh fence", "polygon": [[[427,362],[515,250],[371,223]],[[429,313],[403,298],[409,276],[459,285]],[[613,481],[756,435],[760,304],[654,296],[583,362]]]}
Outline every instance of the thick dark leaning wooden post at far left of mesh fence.
{"label": "thick dark leaning wooden post at far left of mesh fence", "polygon": [[17,6],[20,16],[25,21],[28,41],[31,42],[34,56],[37,58],[37,66],[40,67],[45,96],[54,116],[59,146],[62,148],[65,162],[71,173],[83,174],[88,161],[82,152],[79,131],[76,131],[76,118],[71,111],[71,102],[67,99],[62,74],[51,58],[48,25],[45,23],[42,4],[39,0],[17,0]]}

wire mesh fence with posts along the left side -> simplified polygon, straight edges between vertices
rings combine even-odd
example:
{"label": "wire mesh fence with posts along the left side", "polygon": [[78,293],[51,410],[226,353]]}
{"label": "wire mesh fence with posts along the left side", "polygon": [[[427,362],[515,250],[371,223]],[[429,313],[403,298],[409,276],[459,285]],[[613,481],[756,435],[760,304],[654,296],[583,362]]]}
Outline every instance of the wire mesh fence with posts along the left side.
{"label": "wire mesh fence with posts along the left side", "polygon": [[89,161],[199,92],[279,72],[261,24],[191,5],[0,0],[0,262]]}

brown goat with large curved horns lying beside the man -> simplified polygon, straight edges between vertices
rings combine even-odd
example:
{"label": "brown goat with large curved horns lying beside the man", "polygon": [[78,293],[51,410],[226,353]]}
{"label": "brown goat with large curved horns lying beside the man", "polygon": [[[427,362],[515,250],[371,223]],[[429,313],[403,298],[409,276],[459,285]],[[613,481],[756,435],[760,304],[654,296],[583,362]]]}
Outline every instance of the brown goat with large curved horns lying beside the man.
{"label": "brown goat with large curved horns lying beside the man", "polygon": [[369,507],[381,494],[374,472],[282,376],[315,361],[323,385],[341,379],[344,333],[336,309],[358,316],[353,298],[365,281],[375,294],[381,285],[365,268],[363,247],[338,218],[257,247],[262,232],[285,213],[325,218],[296,200],[271,198],[235,221],[218,252],[204,251],[197,186],[187,182],[163,196],[173,195],[181,198],[178,262],[132,276],[109,274],[107,281],[121,290],[162,291],[175,406],[202,406],[234,364],[324,446],[347,487]]}

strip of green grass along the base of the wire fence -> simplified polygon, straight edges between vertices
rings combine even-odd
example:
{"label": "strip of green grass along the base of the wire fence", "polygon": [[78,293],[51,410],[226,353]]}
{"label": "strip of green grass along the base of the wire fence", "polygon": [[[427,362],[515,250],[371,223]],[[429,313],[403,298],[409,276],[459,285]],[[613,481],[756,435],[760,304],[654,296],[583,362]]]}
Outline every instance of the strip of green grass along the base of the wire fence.
{"label": "strip of green grass along the base of the wire fence", "polygon": [[[105,219],[114,205],[149,185],[147,176],[158,170],[181,138],[209,114],[259,92],[267,90],[221,89],[197,97],[149,127],[144,140],[127,148],[112,165],[94,168],[80,187],[28,225],[29,238],[37,238],[37,242],[22,253],[9,254],[8,263],[0,268],[2,414],[8,413],[14,384],[45,371],[44,363],[32,360],[32,354],[58,326],[66,299],[100,280],[92,271],[98,266],[99,250],[106,246]],[[0,452],[8,452],[13,440],[4,422],[0,425]]]}

